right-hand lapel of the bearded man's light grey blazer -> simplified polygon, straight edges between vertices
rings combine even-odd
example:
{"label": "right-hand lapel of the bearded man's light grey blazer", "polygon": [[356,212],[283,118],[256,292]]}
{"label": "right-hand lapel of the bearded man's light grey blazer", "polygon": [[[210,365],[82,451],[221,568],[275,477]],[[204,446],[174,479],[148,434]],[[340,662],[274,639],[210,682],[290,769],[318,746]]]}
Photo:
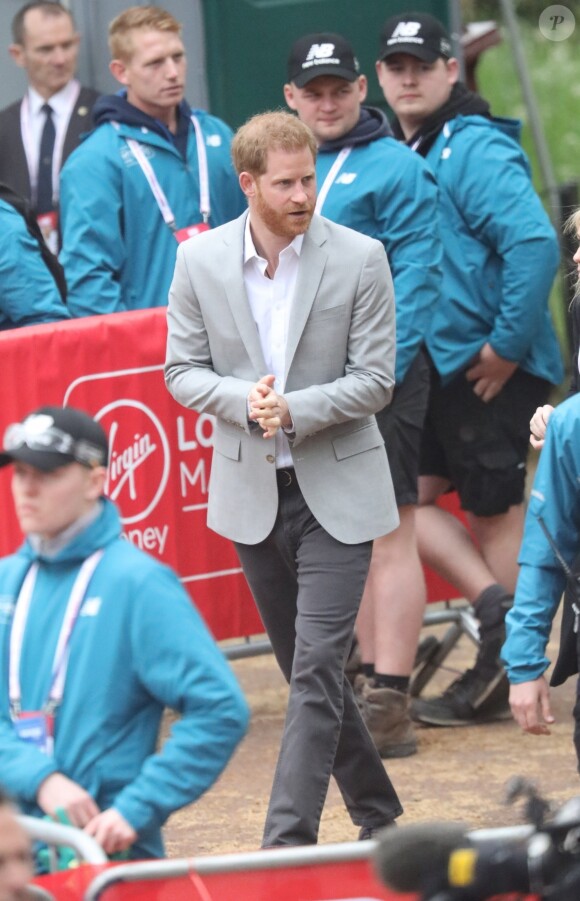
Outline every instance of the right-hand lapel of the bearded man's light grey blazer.
{"label": "right-hand lapel of the bearded man's light grey blazer", "polygon": [[319,216],[314,216],[310,227],[304,235],[300,263],[298,265],[298,278],[296,279],[296,291],[290,312],[288,326],[288,341],[286,344],[286,378],[298,347],[298,342],[304,331],[306,320],[312,309],[312,304],[320,287],[328,254],[324,249],[326,232],[324,224]]}

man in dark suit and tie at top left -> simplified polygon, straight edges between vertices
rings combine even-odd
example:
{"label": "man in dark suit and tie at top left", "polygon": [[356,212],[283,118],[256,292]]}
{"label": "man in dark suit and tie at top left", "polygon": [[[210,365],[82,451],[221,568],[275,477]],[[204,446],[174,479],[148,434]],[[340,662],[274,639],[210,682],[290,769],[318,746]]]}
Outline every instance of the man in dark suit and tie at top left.
{"label": "man in dark suit and tie at top left", "polygon": [[58,175],[90,129],[98,94],[75,78],[80,37],[60,3],[27,3],[14,16],[12,36],[10,55],[26,70],[28,90],[0,111],[0,181],[31,202],[56,250]]}

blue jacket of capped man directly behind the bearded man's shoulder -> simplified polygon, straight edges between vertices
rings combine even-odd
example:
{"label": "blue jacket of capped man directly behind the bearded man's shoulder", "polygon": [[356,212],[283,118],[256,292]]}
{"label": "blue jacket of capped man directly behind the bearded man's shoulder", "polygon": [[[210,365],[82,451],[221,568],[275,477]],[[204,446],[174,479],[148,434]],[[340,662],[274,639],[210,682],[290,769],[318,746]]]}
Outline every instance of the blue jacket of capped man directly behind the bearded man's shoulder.
{"label": "blue jacket of capped man directly behind the bearded man's shoulder", "polygon": [[400,383],[425,340],[441,294],[437,188],[424,161],[390,136],[388,126],[381,128],[377,117],[383,114],[366,107],[362,113],[353,132],[319,148],[316,178],[320,191],[339,151],[354,145],[321,213],[377,238],[387,252],[396,302],[395,381]]}

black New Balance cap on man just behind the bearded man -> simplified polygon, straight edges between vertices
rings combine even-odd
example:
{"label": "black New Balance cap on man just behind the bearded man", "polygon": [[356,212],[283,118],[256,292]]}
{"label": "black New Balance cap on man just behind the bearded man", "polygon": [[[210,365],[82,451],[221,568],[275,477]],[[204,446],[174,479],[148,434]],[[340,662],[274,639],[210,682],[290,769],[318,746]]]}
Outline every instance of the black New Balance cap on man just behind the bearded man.
{"label": "black New Balance cap on man just behind the bearded man", "polygon": [[346,81],[355,81],[359,77],[358,59],[341,34],[332,31],[305,34],[292,45],[288,57],[288,81],[303,88],[319,75],[336,75]]}

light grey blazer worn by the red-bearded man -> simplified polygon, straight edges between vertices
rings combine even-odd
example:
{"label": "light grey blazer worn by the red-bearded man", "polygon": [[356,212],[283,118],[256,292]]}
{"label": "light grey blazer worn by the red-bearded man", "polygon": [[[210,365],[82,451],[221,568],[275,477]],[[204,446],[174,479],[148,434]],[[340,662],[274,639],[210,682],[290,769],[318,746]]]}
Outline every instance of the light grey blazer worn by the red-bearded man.
{"label": "light grey blazer worn by the red-bearded man", "polygon": [[[169,293],[165,378],[181,404],[217,417],[208,525],[262,541],[278,508],[274,442],[247,419],[267,374],[244,288],[246,214],[181,244]],[[311,512],[346,544],[398,524],[374,413],[394,384],[395,305],[382,244],[315,216],[304,236],[290,313],[290,447]]]}

